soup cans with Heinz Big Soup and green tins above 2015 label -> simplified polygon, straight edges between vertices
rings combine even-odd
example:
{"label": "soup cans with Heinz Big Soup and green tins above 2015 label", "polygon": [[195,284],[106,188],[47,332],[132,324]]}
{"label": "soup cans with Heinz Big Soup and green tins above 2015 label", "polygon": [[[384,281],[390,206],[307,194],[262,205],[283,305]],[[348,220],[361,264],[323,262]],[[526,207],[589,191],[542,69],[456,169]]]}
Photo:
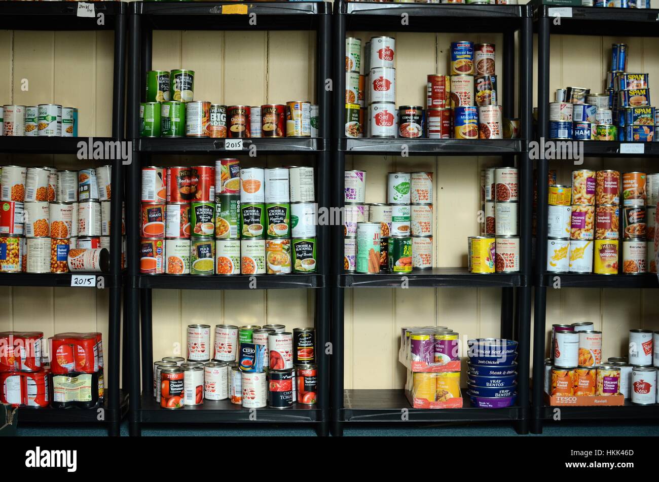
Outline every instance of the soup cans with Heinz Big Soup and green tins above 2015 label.
{"label": "soup cans with Heinz Big Soup and green tins above 2015 label", "polygon": [[194,70],[146,72],[140,103],[141,137],[318,137],[318,105],[220,105],[194,101]]}

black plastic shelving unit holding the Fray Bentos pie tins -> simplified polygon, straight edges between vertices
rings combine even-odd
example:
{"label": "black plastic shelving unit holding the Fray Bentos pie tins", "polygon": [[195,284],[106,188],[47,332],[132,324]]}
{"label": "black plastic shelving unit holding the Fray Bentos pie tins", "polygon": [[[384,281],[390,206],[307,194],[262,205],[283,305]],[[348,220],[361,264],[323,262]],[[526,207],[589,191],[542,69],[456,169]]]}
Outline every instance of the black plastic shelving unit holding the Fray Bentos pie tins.
{"label": "black plastic shelving unit holding the Fray Bentos pie tins", "polygon": [[[425,410],[411,408],[403,390],[344,390],[344,288],[399,287],[400,276],[381,273],[360,275],[343,271],[343,227],[332,230],[333,285],[331,294],[332,357],[331,409],[332,433],[342,435],[351,422],[400,421],[401,409],[409,409],[414,421],[486,421],[509,420],[519,433],[528,432],[529,352],[531,288],[531,201],[532,169],[527,138],[531,132],[532,102],[532,18],[527,5],[447,5],[420,3],[353,3],[335,1],[333,24],[334,86],[332,178],[333,205],[343,206],[345,155],[396,155],[407,146],[410,155],[500,155],[502,164],[512,165],[517,158],[520,171],[520,257],[521,272],[511,275],[473,275],[466,269],[435,268],[416,270],[405,275],[410,287],[481,286],[501,288],[501,336],[519,340],[519,376],[517,404],[511,408],[482,409],[465,406],[457,409]],[[409,24],[401,25],[401,14],[409,16]],[[345,36],[347,31],[367,32],[493,32],[503,33],[503,115],[513,115],[515,105],[515,32],[519,31],[519,117],[521,139],[517,140],[431,140],[346,138],[345,107],[341,95],[345,90]],[[440,69],[441,70],[441,69]],[[429,72],[420,72],[424,76]],[[443,72],[438,72],[442,74]],[[441,161],[441,159],[440,159]],[[440,227],[442,228],[442,227]],[[514,322],[513,322],[514,320]],[[455,327],[459,330],[459,327]]]}

